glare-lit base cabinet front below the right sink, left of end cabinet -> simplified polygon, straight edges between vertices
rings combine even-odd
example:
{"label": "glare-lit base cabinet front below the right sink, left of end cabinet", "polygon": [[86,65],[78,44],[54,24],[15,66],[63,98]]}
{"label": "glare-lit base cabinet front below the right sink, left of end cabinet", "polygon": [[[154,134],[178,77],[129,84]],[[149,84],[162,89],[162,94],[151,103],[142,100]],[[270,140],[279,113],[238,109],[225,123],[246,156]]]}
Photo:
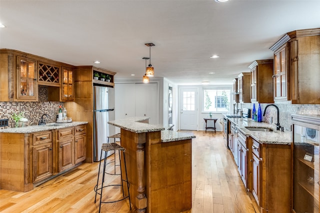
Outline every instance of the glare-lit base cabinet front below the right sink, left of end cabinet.
{"label": "glare-lit base cabinet front below the right sink, left of end cabinet", "polygon": [[241,177],[241,180],[244,184],[244,187],[247,188],[247,140],[246,136],[241,132],[238,131],[238,145],[237,145],[237,152],[238,152],[238,171]]}

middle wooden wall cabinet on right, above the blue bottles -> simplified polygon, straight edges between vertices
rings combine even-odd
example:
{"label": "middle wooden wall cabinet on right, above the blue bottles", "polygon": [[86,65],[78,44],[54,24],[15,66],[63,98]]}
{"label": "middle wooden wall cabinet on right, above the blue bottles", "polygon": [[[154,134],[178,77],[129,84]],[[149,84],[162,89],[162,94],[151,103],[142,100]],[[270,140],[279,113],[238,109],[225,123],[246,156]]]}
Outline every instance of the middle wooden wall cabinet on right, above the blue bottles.
{"label": "middle wooden wall cabinet on right, above the blue bottles", "polygon": [[256,60],[249,68],[251,103],[273,103],[273,60]]}

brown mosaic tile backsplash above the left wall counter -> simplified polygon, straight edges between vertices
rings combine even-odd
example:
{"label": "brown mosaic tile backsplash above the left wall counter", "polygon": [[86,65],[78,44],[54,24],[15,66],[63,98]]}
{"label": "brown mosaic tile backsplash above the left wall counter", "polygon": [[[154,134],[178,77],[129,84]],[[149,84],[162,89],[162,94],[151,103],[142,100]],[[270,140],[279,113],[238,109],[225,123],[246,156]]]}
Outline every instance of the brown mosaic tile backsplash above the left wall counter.
{"label": "brown mosaic tile backsplash above the left wall counter", "polygon": [[[28,119],[24,122],[25,126],[37,125],[41,119],[42,114],[47,114],[45,118],[46,123],[52,123],[56,121],[56,115],[59,111],[59,105],[63,107],[63,102],[48,101],[47,87],[38,87],[38,102],[0,102],[0,119],[9,119],[7,127],[14,127],[14,121],[11,118],[13,113],[24,112],[24,118]],[[22,122],[20,122],[20,126]]]}

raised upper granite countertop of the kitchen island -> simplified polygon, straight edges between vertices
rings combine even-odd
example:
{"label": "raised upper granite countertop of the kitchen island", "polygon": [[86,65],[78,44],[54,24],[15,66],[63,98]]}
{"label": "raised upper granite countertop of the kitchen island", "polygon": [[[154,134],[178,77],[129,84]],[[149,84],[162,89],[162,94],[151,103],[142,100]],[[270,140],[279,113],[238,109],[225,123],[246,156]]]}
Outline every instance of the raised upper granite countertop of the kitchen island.
{"label": "raised upper granite countertop of the kitchen island", "polygon": [[108,124],[125,129],[134,133],[143,133],[143,132],[157,132],[164,130],[163,125],[152,125],[147,123],[140,123],[145,121],[150,117],[130,117],[119,119],[116,121],[108,121]]}

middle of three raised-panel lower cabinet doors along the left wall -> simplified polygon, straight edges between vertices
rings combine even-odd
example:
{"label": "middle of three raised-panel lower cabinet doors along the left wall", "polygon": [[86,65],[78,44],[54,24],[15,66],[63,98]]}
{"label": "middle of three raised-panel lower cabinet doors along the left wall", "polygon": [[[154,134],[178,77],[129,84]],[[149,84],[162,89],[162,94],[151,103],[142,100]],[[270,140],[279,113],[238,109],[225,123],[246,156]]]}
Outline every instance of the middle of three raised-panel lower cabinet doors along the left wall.
{"label": "middle of three raised-panel lower cabinet doors along the left wall", "polygon": [[73,139],[58,143],[58,172],[71,168],[73,164]]}

